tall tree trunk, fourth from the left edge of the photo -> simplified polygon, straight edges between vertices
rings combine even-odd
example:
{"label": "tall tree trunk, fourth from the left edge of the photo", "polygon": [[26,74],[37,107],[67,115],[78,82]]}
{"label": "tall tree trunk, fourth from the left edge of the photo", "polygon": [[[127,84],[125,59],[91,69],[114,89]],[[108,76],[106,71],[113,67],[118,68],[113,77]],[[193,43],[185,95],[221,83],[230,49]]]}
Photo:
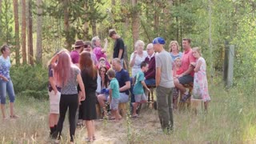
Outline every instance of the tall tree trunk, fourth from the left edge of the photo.
{"label": "tall tree trunk, fourth from the left edge of the photo", "polygon": [[37,19],[37,63],[42,63],[42,0],[37,0],[38,19]]}

